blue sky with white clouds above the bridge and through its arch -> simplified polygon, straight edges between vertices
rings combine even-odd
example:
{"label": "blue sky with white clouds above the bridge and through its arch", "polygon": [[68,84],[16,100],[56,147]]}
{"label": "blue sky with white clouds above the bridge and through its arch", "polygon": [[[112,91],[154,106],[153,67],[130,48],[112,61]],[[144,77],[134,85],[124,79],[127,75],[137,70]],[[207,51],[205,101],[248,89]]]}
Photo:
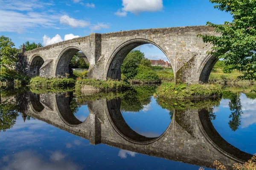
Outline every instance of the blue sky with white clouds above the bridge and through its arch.
{"label": "blue sky with white clouds above the bridge and through its arch", "polygon": [[[16,47],[25,41],[49,45],[90,33],[222,24],[232,16],[209,0],[0,0],[0,34]],[[150,59],[165,57],[154,46],[140,48]]]}

